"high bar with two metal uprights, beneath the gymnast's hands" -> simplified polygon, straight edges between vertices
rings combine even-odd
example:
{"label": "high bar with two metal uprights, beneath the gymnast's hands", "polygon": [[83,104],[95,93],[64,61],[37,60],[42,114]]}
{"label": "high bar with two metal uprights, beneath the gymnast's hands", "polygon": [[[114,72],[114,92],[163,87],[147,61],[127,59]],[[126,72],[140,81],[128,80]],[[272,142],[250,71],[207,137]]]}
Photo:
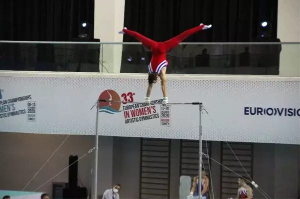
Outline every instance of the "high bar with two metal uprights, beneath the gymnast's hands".
{"label": "high bar with two metal uprights, beneath the gymnast's hands", "polygon": [[[1,42],[1,41],[0,41]],[[80,42],[82,44],[82,42]],[[93,43],[93,42],[91,42]],[[94,42],[95,43],[95,42]],[[98,99],[96,102],[96,125],[95,125],[95,162],[94,162],[94,199],[97,199],[97,175],[98,175],[98,117],[99,117],[99,103],[100,102],[114,102],[114,103],[122,103],[125,101],[113,101],[113,100],[102,100]],[[128,104],[145,104],[144,102],[125,102]],[[150,103],[151,105],[161,105],[161,103]],[[199,106],[199,171],[198,171],[198,182],[201,182],[201,171],[202,171],[202,124],[201,124],[201,113],[203,105],[201,102],[187,102],[187,103],[168,103],[170,105],[198,105]],[[142,139],[140,140],[142,142]],[[141,143],[142,145],[142,143]],[[170,145],[170,143],[169,143]],[[170,153],[170,151],[169,151]],[[140,167],[141,168],[141,167]],[[167,178],[169,179],[169,177]],[[141,189],[141,188],[139,188]],[[198,190],[199,196],[201,195],[201,186],[199,186]]]}

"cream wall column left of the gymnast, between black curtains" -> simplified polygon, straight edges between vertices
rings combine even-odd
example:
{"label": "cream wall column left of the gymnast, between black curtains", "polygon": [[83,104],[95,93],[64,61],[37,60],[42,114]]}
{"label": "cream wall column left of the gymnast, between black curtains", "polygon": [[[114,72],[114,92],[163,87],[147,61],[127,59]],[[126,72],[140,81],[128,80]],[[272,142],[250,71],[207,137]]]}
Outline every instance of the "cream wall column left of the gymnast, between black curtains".
{"label": "cream wall column left of the gymnast, between black curtains", "polygon": [[[95,0],[94,2],[94,38],[105,42],[122,42],[123,35],[117,32],[123,28],[125,0]],[[103,61],[108,72],[120,72],[121,52],[122,45],[101,45],[100,62]],[[100,72],[107,72],[101,64],[99,67]]]}

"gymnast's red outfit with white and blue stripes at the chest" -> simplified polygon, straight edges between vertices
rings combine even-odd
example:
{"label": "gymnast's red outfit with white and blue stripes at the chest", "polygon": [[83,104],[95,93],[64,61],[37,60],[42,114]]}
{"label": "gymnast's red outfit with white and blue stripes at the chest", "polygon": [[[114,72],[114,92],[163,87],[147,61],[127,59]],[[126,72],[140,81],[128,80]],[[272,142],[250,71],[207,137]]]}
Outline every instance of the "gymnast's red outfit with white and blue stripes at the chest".
{"label": "gymnast's red outfit with white and blue stripes at the chest", "polygon": [[204,28],[204,24],[200,24],[197,27],[188,29],[181,34],[167,40],[164,42],[156,42],[153,41],[137,32],[134,32],[132,30],[128,30],[126,28],[123,28],[123,32],[136,38],[139,40],[146,48],[150,49],[152,52],[152,58],[150,61],[150,64],[148,66],[149,72],[156,72],[157,74],[160,74],[161,69],[163,67],[167,66],[166,61],[166,53],[176,47],[181,41],[183,41],[186,37],[190,36],[191,34],[194,34]]}

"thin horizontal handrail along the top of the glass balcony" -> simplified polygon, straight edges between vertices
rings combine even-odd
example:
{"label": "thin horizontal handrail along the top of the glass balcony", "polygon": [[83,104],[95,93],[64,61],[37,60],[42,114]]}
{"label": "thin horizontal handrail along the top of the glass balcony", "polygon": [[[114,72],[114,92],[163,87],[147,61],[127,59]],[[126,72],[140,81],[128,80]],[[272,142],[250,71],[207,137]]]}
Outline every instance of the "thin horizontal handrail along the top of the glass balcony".
{"label": "thin horizontal handrail along the top of the glass balcony", "polygon": [[[140,42],[77,42],[77,41],[6,41],[0,43],[44,43],[44,44],[116,44],[116,45],[141,45]],[[278,44],[300,44],[300,42],[182,42],[179,45],[278,45]]]}

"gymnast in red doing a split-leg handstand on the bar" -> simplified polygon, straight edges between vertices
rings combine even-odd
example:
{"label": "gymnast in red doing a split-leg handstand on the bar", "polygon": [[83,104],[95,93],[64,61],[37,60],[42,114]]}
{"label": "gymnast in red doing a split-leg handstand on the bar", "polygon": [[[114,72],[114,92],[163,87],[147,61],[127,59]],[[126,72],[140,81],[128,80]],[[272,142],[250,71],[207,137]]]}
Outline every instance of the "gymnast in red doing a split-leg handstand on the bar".
{"label": "gymnast in red doing a split-leg handstand on the bar", "polygon": [[200,31],[203,29],[210,28],[211,25],[204,25],[200,24],[197,27],[188,29],[181,34],[167,40],[164,42],[156,42],[153,41],[137,32],[134,32],[132,30],[128,30],[127,28],[123,28],[121,31],[118,33],[120,34],[128,34],[137,40],[139,40],[146,48],[150,49],[152,52],[152,58],[150,61],[150,64],[148,65],[148,88],[147,88],[147,93],[146,93],[146,101],[145,103],[147,105],[150,104],[150,94],[152,90],[152,86],[154,83],[158,81],[158,76],[161,79],[161,90],[163,94],[163,101],[162,105],[167,104],[167,93],[166,93],[166,66],[167,66],[167,61],[166,61],[166,53],[170,51],[172,48],[176,47],[181,41],[183,41],[186,37]]}

